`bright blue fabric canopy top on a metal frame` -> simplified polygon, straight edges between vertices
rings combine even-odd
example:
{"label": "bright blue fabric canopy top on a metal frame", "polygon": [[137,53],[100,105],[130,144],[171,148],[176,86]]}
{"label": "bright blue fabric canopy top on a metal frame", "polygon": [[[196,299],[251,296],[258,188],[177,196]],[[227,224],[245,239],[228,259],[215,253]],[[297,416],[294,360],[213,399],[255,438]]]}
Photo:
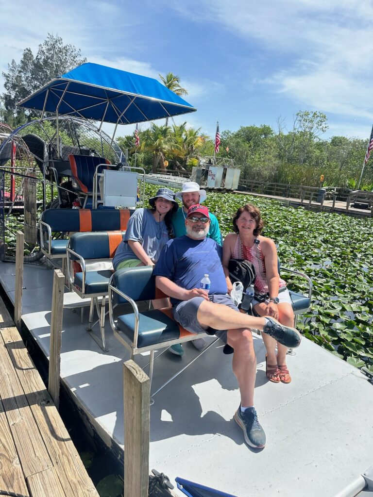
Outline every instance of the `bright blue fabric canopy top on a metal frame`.
{"label": "bright blue fabric canopy top on a metal frame", "polygon": [[159,81],[87,62],[18,103],[96,121],[130,124],[196,109]]}

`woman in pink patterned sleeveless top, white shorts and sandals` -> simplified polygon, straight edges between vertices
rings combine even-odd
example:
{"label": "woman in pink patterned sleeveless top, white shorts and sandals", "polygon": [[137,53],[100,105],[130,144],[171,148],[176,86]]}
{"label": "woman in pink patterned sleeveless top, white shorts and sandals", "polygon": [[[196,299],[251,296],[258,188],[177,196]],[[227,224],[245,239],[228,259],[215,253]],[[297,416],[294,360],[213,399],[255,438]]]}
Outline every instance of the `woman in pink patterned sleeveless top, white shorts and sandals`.
{"label": "woman in pink patterned sleeveless top, white shorts and sandals", "polygon": [[[281,324],[292,327],[294,313],[286,283],[279,275],[276,245],[270,238],[261,236],[263,226],[260,210],[254,205],[240,207],[234,216],[235,233],[227,235],[223,245],[223,267],[228,292],[232,290],[228,271],[229,260],[249,260],[254,264],[257,274],[254,284],[255,297],[252,301],[254,311],[259,316],[273,316]],[[290,383],[291,377],[286,365],[287,348],[266,333],[262,336],[267,349],[268,379],[273,383]]]}

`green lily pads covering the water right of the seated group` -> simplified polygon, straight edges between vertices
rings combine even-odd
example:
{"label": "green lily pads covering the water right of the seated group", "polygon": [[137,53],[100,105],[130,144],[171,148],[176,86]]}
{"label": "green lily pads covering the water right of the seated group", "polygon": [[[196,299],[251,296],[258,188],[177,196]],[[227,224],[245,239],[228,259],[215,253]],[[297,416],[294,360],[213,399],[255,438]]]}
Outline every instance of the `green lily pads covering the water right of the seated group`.
{"label": "green lily pads covering the water right of the seated group", "polygon": [[[147,185],[146,194],[158,186]],[[277,246],[281,265],[306,273],[313,282],[312,304],[298,328],[310,340],[373,375],[373,218],[294,209],[250,195],[208,193],[223,236],[246,203],[261,209],[264,236]],[[293,290],[305,283],[284,275]]]}

